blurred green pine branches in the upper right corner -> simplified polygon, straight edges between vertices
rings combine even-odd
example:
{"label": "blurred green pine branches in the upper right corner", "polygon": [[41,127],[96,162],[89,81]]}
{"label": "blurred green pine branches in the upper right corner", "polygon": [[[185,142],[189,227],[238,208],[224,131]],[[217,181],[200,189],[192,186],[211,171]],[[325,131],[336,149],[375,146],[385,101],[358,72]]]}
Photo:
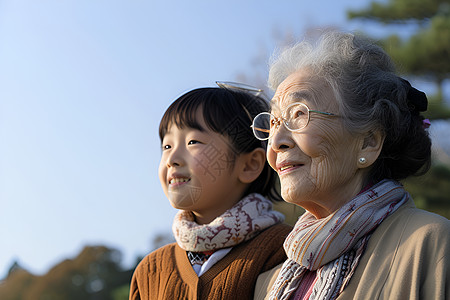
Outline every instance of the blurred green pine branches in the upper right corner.
{"label": "blurred green pine branches in the upper right corner", "polygon": [[384,24],[417,25],[408,39],[391,35],[380,43],[407,75],[434,82],[437,94],[429,97],[427,117],[450,118],[444,104],[443,84],[450,75],[450,4],[448,0],[390,0],[373,2],[370,8],[350,11],[350,19],[362,18]]}

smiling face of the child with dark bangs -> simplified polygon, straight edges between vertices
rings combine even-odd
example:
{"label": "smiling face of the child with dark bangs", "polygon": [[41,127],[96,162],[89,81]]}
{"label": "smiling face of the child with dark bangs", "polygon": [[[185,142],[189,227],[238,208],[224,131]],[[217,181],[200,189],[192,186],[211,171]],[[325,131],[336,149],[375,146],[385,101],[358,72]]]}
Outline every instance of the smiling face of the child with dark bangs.
{"label": "smiling face of the child with dark bangs", "polygon": [[174,208],[215,216],[239,200],[230,196],[239,180],[228,139],[209,130],[200,113],[197,117],[204,131],[169,127],[162,142],[159,179]]}

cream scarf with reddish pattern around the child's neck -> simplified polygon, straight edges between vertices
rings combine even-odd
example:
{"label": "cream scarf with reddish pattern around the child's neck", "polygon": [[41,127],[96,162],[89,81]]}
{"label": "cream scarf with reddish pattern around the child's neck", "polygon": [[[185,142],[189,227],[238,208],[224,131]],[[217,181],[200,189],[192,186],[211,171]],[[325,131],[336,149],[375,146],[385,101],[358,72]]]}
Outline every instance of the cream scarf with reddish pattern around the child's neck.
{"label": "cream scarf with reddish pattern around the child's neck", "polygon": [[250,194],[205,225],[197,224],[192,212],[179,211],[172,230],[182,249],[201,252],[235,246],[283,220],[283,214],[272,210],[272,202]]}

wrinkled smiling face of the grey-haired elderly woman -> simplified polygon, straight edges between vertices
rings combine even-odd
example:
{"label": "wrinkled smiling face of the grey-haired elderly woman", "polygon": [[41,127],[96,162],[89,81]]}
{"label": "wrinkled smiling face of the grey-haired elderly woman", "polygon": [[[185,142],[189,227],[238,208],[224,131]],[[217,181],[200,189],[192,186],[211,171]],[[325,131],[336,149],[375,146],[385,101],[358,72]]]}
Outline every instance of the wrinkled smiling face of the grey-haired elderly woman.
{"label": "wrinkled smiling face of the grey-haired elderly woman", "polygon": [[[278,117],[294,102],[339,115],[329,84],[307,69],[291,74],[280,84],[272,99],[272,113]],[[275,129],[267,159],[280,177],[284,200],[324,217],[361,188],[357,168],[360,147],[361,139],[344,128],[339,116],[311,112],[308,126],[300,132],[291,132],[284,125]]]}

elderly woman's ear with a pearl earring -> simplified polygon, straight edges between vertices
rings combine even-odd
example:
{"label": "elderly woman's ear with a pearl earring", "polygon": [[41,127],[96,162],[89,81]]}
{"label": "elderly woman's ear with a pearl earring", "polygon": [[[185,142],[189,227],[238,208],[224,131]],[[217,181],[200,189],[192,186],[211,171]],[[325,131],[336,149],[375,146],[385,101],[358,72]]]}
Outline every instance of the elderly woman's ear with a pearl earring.
{"label": "elderly woman's ear with a pearl earring", "polygon": [[358,157],[358,167],[367,168],[378,159],[383,149],[385,135],[381,131],[369,132],[362,141]]}

